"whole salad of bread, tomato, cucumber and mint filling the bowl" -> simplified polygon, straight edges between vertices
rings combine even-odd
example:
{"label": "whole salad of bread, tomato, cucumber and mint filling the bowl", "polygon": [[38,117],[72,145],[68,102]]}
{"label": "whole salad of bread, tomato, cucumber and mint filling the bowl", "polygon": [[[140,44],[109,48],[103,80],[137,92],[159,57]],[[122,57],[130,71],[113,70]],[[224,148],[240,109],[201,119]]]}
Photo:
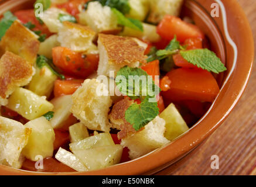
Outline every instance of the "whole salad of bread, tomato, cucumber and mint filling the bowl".
{"label": "whole salad of bread, tomato, cucumber and mint filling the bowl", "polygon": [[[37,0],[0,19],[0,164],[102,169],[186,133],[226,71],[183,0]],[[41,161],[41,162],[39,162]]]}

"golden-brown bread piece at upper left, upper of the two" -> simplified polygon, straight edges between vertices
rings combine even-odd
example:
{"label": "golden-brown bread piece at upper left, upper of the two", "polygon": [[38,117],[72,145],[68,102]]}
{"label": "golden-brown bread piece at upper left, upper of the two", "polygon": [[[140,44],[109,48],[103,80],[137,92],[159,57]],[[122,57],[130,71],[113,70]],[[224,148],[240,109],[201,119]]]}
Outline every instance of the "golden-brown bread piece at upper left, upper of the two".
{"label": "golden-brown bread piece at upper left, upper of the two", "polygon": [[2,37],[0,46],[34,64],[39,50],[38,36],[16,20]]}

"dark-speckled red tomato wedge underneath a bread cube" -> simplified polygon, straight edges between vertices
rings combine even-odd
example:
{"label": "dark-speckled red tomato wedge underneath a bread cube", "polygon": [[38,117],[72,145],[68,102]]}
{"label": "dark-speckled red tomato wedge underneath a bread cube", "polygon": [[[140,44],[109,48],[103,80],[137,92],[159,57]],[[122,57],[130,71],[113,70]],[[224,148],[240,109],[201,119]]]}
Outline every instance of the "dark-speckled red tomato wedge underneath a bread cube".
{"label": "dark-speckled red tomato wedge underneath a bread cube", "polygon": [[81,54],[67,47],[54,47],[52,55],[53,64],[66,74],[87,78],[98,69],[98,54]]}

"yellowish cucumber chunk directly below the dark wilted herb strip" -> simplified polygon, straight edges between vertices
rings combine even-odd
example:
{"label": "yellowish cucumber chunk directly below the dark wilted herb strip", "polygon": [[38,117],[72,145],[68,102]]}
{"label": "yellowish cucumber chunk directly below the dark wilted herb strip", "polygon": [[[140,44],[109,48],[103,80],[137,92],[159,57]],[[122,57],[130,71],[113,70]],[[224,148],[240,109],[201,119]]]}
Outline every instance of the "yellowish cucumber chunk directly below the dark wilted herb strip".
{"label": "yellowish cucumber chunk directly below the dark wilted herb strip", "polygon": [[42,68],[36,67],[36,74],[26,88],[39,96],[49,98],[56,79],[57,75],[55,75],[47,65],[44,65]]}

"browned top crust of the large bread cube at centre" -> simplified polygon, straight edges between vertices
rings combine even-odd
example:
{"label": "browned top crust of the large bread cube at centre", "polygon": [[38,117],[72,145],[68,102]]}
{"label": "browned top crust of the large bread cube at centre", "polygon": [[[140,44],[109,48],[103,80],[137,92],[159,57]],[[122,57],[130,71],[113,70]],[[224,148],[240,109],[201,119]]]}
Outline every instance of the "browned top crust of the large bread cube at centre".
{"label": "browned top crust of the large bread cube at centre", "polygon": [[98,34],[108,55],[108,62],[113,64],[146,63],[145,48],[132,37]]}

